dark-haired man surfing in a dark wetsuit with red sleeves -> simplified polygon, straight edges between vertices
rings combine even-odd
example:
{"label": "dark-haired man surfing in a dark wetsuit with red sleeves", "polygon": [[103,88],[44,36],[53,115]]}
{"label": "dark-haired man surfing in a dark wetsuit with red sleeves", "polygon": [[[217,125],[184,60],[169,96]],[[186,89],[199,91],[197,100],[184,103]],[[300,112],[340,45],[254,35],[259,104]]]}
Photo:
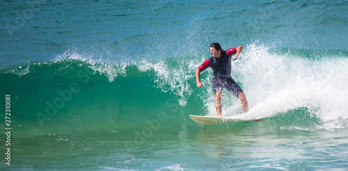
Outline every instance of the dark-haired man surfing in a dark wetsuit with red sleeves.
{"label": "dark-haired man surfing in a dark wetsuit with red sleeves", "polygon": [[210,54],[212,57],[208,58],[204,61],[202,65],[200,65],[196,70],[196,82],[197,87],[202,88],[203,83],[200,82],[200,72],[203,72],[207,67],[211,67],[213,74],[213,90],[215,93],[215,108],[218,116],[221,115],[221,93],[223,88],[226,88],[232,95],[238,97],[241,101],[242,111],[247,113],[248,109],[248,101],[246,100],[246,96],[242,88],[232,79],[231,74],[231,56],[235,54],[236,60],[239,56],[239,53],[242,51],[243,47],[235,47],[233,49],[227,49],[223,51],[221,49],[221,45],[217,42],[210,44]]}

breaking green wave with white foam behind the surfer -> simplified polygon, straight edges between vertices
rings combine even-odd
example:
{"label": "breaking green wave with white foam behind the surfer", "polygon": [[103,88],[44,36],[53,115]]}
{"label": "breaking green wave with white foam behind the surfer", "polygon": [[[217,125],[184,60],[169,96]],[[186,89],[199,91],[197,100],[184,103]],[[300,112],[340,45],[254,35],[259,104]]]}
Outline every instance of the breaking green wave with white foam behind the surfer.
{"label": "breaking green wave with white foam behind the surfer", "polygon": [[[250,111],[245,117],[277,117],[306,108],[308,115],[322,121],[320,127],[347,127],[347,51],[329,52],[332,51],[274,49],[258,43],[244,47],[243,53],[232,63],[232,78],[246,93]],[[72,99],[63,101],[66,104],[64,108],[48,109],[48,112],[65,113],[63,116],[74,118],[74,122],[84,117],[91,122],[92,114],[87,117],[82,113],[105,113],[98,110],[109,108],[110,112],[105,115],[114,120],[120,117],[120,113],[136,113],[140,117],[139,113],[143,113],[141,109],[124,110],[134,104],[146,101],[145,106],[151,106],[156,111],[156,108],[161,108],[156,104],[175,99],[182,107],[203,106],[196,115],[216,115],[211,70],[202,72],[201,79],[205,85],[202,89],[196,88],[194,71],[205,58],[206,54],[195,54],[187,58],[142,58],[117,63],[69,51],[52,61],[31,61],[1,70],[1,80],[10,83],[1,83],[0,87],[3,93],[12,93],[19,108],[23,108],[19,111],[22,114],[17,115],[19,120],[37,122],[37,113],[47,115],[47,108],[54,106],[56,99],[64,99],[62,95],[70,94]],[[73,87],[72,90],[70,87]],[[74,88],[81,91],[75,94]],[[161,95],[164,97],[159,97]],[[56,106],[59,106],[58,102]],[[93,106],[87,107],[88,111],[85,110],[85,102]],[[97,106],[98,103],[103,108]],[[145,113],[151,115],[151,112]],[[223,115],[234,117],[240,113],[239,99],[224,92]],[[63,117],[60,118],[64,122]]]}

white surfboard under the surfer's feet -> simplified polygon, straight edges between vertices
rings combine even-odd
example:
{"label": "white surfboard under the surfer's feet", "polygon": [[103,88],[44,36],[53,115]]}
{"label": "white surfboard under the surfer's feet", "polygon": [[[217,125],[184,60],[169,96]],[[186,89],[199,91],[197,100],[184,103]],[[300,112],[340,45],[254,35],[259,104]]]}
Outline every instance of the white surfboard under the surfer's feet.
{"label": "white surfboard under the surfer's feet", "polygon": [[189,115],[194,122],[198,124],[229,124],[229,123],[239,123],[239,122],[249,122],[251,120],[236,119],[230,117],[218,117],[218,116],[198,116]]}

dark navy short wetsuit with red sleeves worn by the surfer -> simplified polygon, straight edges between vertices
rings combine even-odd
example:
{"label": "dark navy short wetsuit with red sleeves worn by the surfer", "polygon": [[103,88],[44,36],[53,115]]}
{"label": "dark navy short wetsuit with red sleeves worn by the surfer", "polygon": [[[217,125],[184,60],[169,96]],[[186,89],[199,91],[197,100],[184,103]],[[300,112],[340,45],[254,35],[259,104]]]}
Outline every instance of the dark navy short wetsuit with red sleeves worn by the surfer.
{"label": "dark navy short wetsuit with red sleeves worn by the surfer", "polygon": [[243,92],[242,88],[232,79],[231,74],[231,56],[236,53],[236,47],[228,49],[227,51],[221,51],[219,58],[210,57],[205,60],[198,69],[203,72],[207,67],[211,67],[213,75],[213,89],[214,93],[222,92],[223,88],[226,88],[236,97]]}

